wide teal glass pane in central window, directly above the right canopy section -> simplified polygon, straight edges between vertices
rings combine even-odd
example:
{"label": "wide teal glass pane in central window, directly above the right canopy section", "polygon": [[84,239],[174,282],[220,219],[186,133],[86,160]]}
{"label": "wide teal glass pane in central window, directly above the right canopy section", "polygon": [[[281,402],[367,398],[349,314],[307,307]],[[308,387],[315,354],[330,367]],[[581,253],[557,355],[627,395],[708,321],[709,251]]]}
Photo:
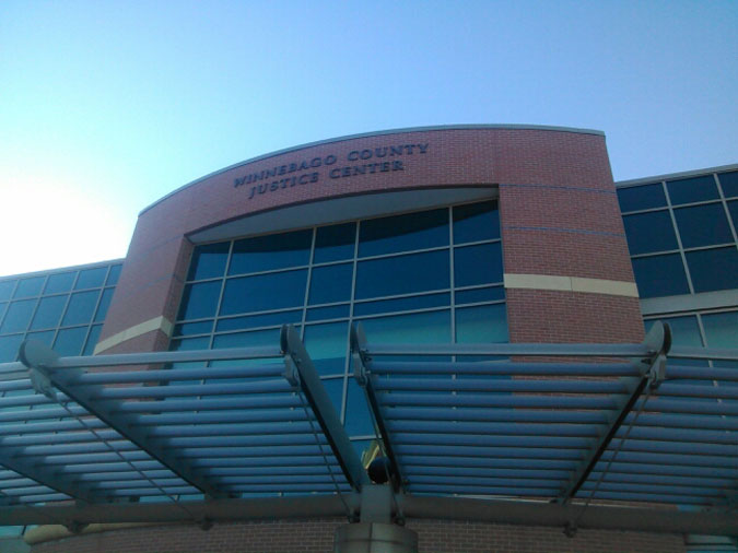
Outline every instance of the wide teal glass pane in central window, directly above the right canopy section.
{"label": "wide teal glass pane in central window, directly above the right canopy section", "polygon": [[361,321],[370,343],[449,343],[450,311],[413,313]]}

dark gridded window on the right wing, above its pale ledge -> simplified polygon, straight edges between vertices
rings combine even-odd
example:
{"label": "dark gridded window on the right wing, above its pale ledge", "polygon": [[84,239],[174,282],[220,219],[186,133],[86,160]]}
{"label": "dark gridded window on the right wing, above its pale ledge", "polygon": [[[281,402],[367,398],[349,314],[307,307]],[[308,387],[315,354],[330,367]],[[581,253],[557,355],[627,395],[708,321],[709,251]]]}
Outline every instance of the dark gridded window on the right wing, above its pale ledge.
{"label": "dark gridded window on the right wing, above its pale ledge", "polygon": [[738,172],[618,189],[641,297],[738,289]]}

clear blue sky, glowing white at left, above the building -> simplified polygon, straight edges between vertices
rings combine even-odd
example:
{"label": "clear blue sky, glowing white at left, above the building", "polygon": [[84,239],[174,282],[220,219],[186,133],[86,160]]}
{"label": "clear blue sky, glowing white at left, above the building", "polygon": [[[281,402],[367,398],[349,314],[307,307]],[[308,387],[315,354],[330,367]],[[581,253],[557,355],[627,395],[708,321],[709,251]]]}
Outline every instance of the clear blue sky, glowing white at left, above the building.
{"label": "clear blue sky, glowing white at left, above the building", "polygon": [[599,129],[616,180],[738,163],[738,1],[0,2],[0,275],[120,258],[227,165],[383,129]]}

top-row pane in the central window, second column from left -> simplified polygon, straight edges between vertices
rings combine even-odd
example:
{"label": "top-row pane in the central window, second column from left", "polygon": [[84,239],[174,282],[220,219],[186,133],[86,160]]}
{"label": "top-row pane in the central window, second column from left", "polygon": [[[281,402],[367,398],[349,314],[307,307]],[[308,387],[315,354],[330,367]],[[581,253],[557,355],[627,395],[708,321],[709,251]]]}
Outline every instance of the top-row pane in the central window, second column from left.
{"label": "top-row pane in the central window, second column from left", "polygon": [[312,242],[312,230],[236,240],[233,244],[229,274],[307,264]]}

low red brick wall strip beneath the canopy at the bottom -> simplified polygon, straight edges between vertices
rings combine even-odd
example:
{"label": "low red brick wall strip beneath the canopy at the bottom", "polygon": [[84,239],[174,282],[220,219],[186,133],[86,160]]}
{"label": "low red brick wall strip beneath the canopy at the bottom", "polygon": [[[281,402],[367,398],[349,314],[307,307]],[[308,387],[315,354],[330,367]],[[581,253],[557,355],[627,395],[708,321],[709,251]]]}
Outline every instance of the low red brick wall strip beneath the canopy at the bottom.
{"label": "low red brick wall strip beneath the canopy at the bottom", "polygon": [[[333,551],[340,519],[260,521],[115,530],[39,543],[32,553],[210,553]],[[410,520],[419,533],[419,553],[653,553],[686,551],[679,536],[611,530],[561,529],[448,520]]]}

